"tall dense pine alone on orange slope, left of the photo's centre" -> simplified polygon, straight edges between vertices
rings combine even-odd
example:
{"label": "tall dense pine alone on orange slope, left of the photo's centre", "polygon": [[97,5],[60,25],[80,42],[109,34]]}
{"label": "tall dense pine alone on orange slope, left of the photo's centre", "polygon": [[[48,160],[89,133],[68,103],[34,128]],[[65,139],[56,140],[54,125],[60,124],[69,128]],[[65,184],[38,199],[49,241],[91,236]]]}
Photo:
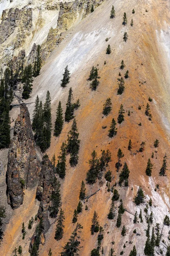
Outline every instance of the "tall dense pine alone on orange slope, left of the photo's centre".
{"label": "tall dense pine alone on orange slope, left of the photo's centre", "polygon": [[77,122],[74,119],[73,124],[71,126],[71,130],[68,132],[68,145],[67,151],[70,153],[70,165],[76,166],[79,160],[78,153],[79,153],[79,133],[77,132]]}

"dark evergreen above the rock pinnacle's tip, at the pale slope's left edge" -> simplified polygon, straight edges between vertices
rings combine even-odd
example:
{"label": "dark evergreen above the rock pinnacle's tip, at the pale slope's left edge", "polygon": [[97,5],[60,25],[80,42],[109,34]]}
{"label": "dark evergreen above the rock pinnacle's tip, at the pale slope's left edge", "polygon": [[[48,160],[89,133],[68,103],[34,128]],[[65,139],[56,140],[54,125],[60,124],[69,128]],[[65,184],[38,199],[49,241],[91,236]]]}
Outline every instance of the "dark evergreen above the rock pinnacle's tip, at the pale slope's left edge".
{"label": "dark evergreen above the rock pinnacle's tip, at the pale slope's left edge", "polygon": [[32,82],[33,82],[33,73],[32,73],[32,66],[29,64],[25,67],[23,72],[23,99],[28,99],[30,97],[30,93],[32,91]]}

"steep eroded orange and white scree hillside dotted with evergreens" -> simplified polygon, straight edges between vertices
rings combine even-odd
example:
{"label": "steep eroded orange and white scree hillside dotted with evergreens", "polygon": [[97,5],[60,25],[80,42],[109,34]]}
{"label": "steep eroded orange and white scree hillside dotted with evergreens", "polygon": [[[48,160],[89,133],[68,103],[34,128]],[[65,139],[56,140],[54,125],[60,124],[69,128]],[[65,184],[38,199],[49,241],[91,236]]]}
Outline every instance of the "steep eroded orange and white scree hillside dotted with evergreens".
{"label": "steep eroded orange and white scree hillside dotted with evergreens", "polygon": [[[15,1],[14,1],[15,2]],[[14,4],[11,3],[11,4]],[[47,1],[44,1],[47,4]],[[56,3],[57,6],[59,3]],[[116,17],[110,19],[111,7],[114,5]],[[21,6],[23,8],[23,6]],[[153,224],[150,227],[156,227],[156,223],[160,224],[161,242],[159,247],[155,247],[155,255],[166,255],[167,246],[169,245],[169,227],[163,224],[165,215],[169,216],[169,171],[166,176],[159,176],[162,161],[165,153],[169,157],[170,152],[170,15],[169,3],[161,0],[150,1],[105,1],[94,12],[89,13],[74,26],[68,27],[62,34],[62,40],[57,44],[57,49],[53,44],[56,43],[54,38],[50,43],[42,44],[42,53],[44,47],[49,47],[51,54],[42,66],[40,75],[34,79],[31,98],[26,103],[35,102],[37,95],[42,102],[45,102],[47,90],[51,94],[51,114],[52,128],[56,118],[56,110],[61,101],[63,112],[65,112],[68,91],[72,87],[74,100],[79,99],[80,107],[75,111],[77,120],[77,128],[80,139],[79,163],[76,167],[69,164],[69,156],[67,156],[66,176],[60,179],[62,209],[65,212],[65,228],[63,238],[59,241],[54,239],[56,222],[50,219],[51,227],[45,234],[45,243],[40,244],[39,255],[48,255],[49,248],[54,256],[58,256],[62,251],[62,247],[68,241],[75,228],[72,223],[74,209],[79,203],[79,190],[82,180],[85,181],[88,172],[88,160],[91,159],[93,150],[101,157],[102,150],[109,149],[111,151],[112,161],[106,167],[111,170],[112,180],[110,186],[115,182],[119,182],[119,172],[116,172],[115,164],[117,163],[117,152],[121,148],[124,157],[121,159],[122,166],[126,162],[130,170],[128,178],[128,186],[116,185],[120,197],[115,202],[116,216],[113,220],[107,218],[111,207],[111,198],[113,192],[108,192],[105,180],[105,172],[102,178],[97,179],[93,185],[85,183],[86,195],[91,195],[100,189],[95,195],[83,202],[82,212],[78,215],[78,222],[82,224],[81,246],[79,255],[90,256],[91,250],[97,247],[98,233],[91,235],[91,219],[94,210],[99,215],[99,224],[104,229],[104,238],[102,239],[102,247],[104,255],[109,255],[111,247],[115,250],[113,255],[120,255],[124,251],[124,255],[129,255],[133,245],[136,246],[137,255],[145,255],[144,247],[147,240],[146,230],[147,221],[144,209],[149,199],[152,199],[152,206],[148,208],[148,214],[153,212]],[[132,14],[132,10],[135,13]],[[122,25],[123,14],[126,12],[127,25]],[[67,11],[66,11],[67,13]],[[70,14],[71,15],[71,14]],[[75,15],[75,14],[73,14]],[[80,12],[80,15],[82,13]],[[50,16],[50,14],[49,14]],[[52,16],[50,16],[52,17]],[[63,16],[61,15],[63,18]],[[58,16],[57,16],[58,18]],[[71,19],[74,19],[71,16]],[[130,20],[133,19],[133,26],[130,26]],[[48,20],[48,19],[47,19]],[[33,17],[33,22],[35,19]],[[52,22],[52,21],[51,21]],[[51,27],[51,23],[48,24]],[[44,32],[48,34],[44,26]],[[65,30],[65,27],[64,27]],[[52,29],[50,30],[52,31]],[[56,32],[56,31],[55,31]],[[54,32],[54,34],[55,34]],[[127,42],[123,41],[124,33],[127,32]],[[57,32],[56,32],[57,33]],[[42,32],[40,30],[40,35]],[[38,33],[37,33],[38,37]],[[105,41],[109,38],[108,41]],[[32,43],[42,43],[40,40],[31,39]],[[23,44],[23,48],[27,53],[31,50],[31,43],[27,41],[27,45]],[[3,43],[4,44],[4,43]],[[11,44],[11,43],[10,43]],[[111,54],[106,54],[108,44],[111,46]],[[49,52],[48,52],[49,53]],[[49,55],[49,54],[47,54]],[[45,56],[47,56],[45,55]],[[124,60],[125,68],[120,70],[121,61]],[[104,62],[106,61],[106,64]],[[71,79],[67,87],[60,86],[60,80],[64,68],[68,65],[71,72]],[[91,91],[90,81],[87,81],[92,66],[98,67],[100,76],[99,86],[96,91]],[[124,76],[125,71],[129,71],[129,78],[125,79],[125,91],[122,95],[117,95],[117,78],[119,72]],[[103,104],[110,97],[113,104],[111,113],[103,116]],[[148,101],[148,98],[152,102]],[[152,120],[145,115],[147,103],[150,105]],[[120,105],[125,109],[124,122],[117,122]],[[34,111],[34,104],[28,104],[28,111],[31,119]],[[139,109],[141,106],[141,109]],[[130,115],[128,115],[130,111]],[[11,110],[11,121],[17,118],[19,108]],[[108,137],[108,130],[112,119],[117,124],[117,134],[113,138]],[[141,125],[139,125],[141,123]],[[51,146],[46,151],[51,159],[53,154],[59,155],[62,142],[67,140],[68,131],[71,129],[72,121],[64,123],[62,133],[59,137],[52,136]],[[11,122],[11,127],[14,122]],[[102,127],[106,127],[103,129]],[[52,130],[53,134],[53,130]],[[154,141],[159,140],[159,147],[154,148]],[[128,150],[129,140],[132,142],[131,151]],[[145,142],[144,151],[139,152],[140,144]],[[151,158],[154,152],[154,157]],[[6,155],[8,151],[0,151],[3,164],[7,163]],[[153,163],[152,176],[145,174],[147,161],[151,159]],[[167,169],[169,169],[169,160],[167,160]],[[0,177],[3,184],[3,204],[7,197],[5,195],[6,184],[5,176]],[[156,185],[159,184],[159,189]],[[133,199],[136,192],[142,186],[144,191],[144,204],[136,206]],[[5,187],[5,189],[4,189]],[[24,191],[23,205],[10,212],[11,218],[8,220],[4,232],[4,238],[1,243],[1,253],[3,256],[13,255],[12,251],[15,247],[22,245],[23,255],[30,255],[28,252],[30,238],[34,233],[35,224],[32,230],[27,230],[25,240],[22,239],[22,222],[28,226],[28,221],[38,212],[39,202],[36,197],[36,188]],[[123,201],[125,208],[122,214],[121,227],[116,227],[116,220],[120,205],[120,199]],[[88,210],[85,210],[87,205]],[[9,206],[7,206],[9,207]],[[7,208],[8,209],[8,208]],[[143,222],[133,223],[135,212],[139,216],[142,209]],[[122,236],[122,227],[126,227],[126,235]],[[133,231],[136,229],[136,233]],[[164,240],[164,241],[163,241]],[[114,241],[114,243],[112,243]],[[125,247],[123,247],[125,244]],[[101,250],[100,250],[101,254]]]}

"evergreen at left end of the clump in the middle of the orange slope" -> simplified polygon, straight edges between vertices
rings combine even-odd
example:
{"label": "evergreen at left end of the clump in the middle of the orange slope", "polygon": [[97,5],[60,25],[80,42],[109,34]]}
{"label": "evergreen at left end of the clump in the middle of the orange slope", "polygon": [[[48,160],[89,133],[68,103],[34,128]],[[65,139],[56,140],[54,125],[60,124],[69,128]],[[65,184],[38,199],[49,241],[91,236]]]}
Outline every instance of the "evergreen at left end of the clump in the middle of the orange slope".
{"label": "evergreen at left end of the clump in the middle of the orange slope", "polygon": [[99,175],[99,160],[95,150],[91,153],[91,157],[92,159],[88,161],[90,169],[87,172],[86,180],[87,183],[94,184]]}

